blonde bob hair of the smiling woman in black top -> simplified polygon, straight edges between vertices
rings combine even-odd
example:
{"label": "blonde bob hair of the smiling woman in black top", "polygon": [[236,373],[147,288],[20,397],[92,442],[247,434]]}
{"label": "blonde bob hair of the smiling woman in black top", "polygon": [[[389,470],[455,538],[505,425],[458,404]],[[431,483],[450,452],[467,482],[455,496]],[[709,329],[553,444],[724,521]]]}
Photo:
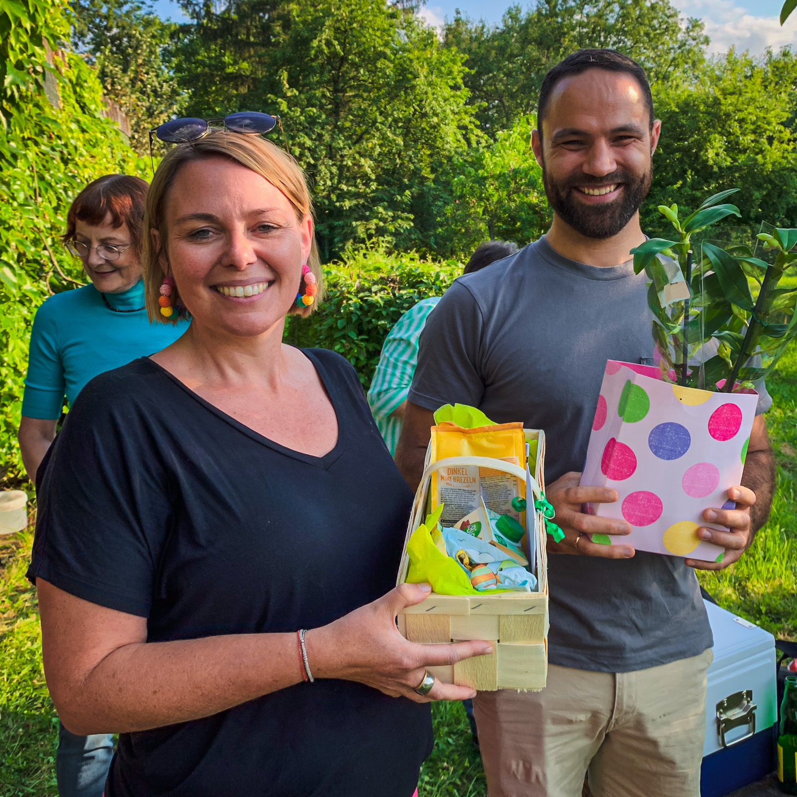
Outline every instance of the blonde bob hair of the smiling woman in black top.
{"label": "blonde bob hair of the smiling woman in black top", "polygon": [[[147,210],[144,214],[143,249],[141,253],[141,267],[143,270],[144,295],[147,302],[147,315],[151,321],[160,321],[163,324],[176,324],[177,313],[172,313],[167,318],[160,312],[158,299],[160,286],[166,274],[160,265],[163,245],[167,238],[166,231],[166,206],[169,201],[169,190],[175,182],[180,169],[186,163],[208,158],[228,158],[255,174],[261,175],[276,186],[296,210],[296,218],[302,219],[307,214],[312,215],[312,199],[304,181],[304,173],[299,165],[286,152],[276,147],[270,141],[262,139],[259,135],[244,135],[230,133],[224,130],[211,130],[204,138],[186,144],[177,144],[166,157],[159,163],[155,177],[147,192]],[[155,247],[152,242],[152,230],[159,230],[160,245]],[[309,316],[320,304],[324,296],[324,272],[321,269],[316,247],[316,238],[313,236],[312,249],[307,265],[316,275],[318,292],[315,301],[309,307],[300,308],[294,301],[288,315]],[[172,289],[172,303],[179,299],[179,291]]]}

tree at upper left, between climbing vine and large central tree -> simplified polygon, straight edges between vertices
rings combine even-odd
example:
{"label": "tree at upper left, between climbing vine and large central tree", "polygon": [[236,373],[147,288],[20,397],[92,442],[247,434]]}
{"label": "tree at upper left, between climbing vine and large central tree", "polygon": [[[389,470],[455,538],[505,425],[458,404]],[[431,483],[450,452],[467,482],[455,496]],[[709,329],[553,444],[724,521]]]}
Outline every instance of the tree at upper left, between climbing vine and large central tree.
{"label": "tree at upper left, between climbing vine and large central tree", "polygon": [[73,0],[72,41],[96,66],[106,96],[128,116],[131,143],[149,151],[148,131],[179,113],[182,92],[164,60],[173,30],[137,0]]}

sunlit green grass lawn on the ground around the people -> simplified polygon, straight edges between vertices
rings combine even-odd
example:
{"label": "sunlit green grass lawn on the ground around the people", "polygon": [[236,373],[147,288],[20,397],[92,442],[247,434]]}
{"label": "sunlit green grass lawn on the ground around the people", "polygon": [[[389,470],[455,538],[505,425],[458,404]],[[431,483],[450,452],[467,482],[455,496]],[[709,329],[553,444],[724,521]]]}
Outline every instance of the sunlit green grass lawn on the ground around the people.
{"label": "sunlit green grass lawn on the ground around the people", "polygon": [[[732,567],[701,573],[717,601],[777,637],[797,638],[797,347],[770,379],[767,415],[778,462],[769,523]],[[41,668],[36,594],[25,579],[29,533],[0,542],[0,797],[55,797],[56,717]],[[461,704],[432,707],[436,744],[421,797],[485,797],[484,772]]]}

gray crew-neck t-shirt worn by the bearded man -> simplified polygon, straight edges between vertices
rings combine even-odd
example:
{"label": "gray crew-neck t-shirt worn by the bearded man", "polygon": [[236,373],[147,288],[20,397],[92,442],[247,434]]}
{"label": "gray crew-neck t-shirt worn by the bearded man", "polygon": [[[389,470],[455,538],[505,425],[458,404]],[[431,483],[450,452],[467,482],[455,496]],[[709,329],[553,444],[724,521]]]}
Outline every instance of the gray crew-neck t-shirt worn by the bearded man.
{"label": "gray crew-neck t-shirt worn by the bearded man", "polygon": [[[546,436],[545,479],[583,468],[607,359],[651,363],[644,273],[562,257],[540,238],[459,277],[426,322],[409,400],[477,406]],[[713,645],[684,559],[548,556],[553,664],[630,672]]]}

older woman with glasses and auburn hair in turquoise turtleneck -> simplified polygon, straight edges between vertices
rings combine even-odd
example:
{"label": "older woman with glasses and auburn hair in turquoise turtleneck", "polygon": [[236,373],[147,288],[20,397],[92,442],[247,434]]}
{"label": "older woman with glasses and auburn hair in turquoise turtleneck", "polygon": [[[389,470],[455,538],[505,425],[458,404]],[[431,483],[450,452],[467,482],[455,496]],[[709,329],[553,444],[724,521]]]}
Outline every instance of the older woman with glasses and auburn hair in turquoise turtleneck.
{"label": "older woman with glasses and auburn hair in turquoise turtleneck", "polygon": [[[96,375],[173,343],[188,324],[151,324],[141,279],[141,230],[147,183],[105,175],[78,194],[64,243],[90,285],[50,296],[30,337],[19,445],[31,481],[56,435],[64,396],[71,406]],[[113,740],[75,736],[61,725],[57,778],[61,797],[100,797]]]}

